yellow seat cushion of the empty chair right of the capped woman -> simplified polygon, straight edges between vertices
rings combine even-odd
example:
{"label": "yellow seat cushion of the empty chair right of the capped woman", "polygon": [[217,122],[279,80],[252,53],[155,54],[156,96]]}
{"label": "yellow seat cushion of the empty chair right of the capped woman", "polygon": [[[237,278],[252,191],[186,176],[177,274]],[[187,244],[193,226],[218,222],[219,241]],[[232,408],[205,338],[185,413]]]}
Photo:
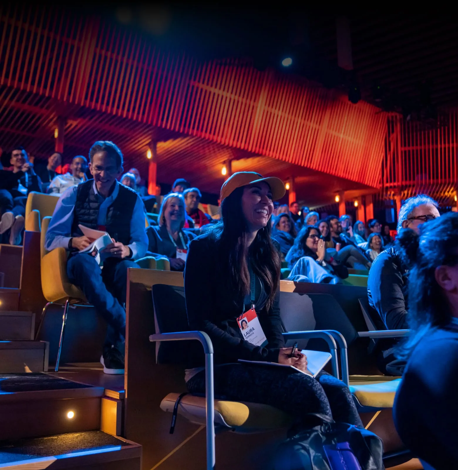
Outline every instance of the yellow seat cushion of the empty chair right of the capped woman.
{"label": "yellow seat cushion of the empty chair right of the capped woman", "polygon": [[[380,376],[380,378],[383,376]],[[383,377],[385,378],[385,377]],[[369,383],[360,384],[351,382],[349,389],[352,395],[363,407],[373,408],[392,408],[397,388],[401,383],[400,378],[386,377],[385,381],[369,381]],[[390,380],[392,379],[392,380]]]}

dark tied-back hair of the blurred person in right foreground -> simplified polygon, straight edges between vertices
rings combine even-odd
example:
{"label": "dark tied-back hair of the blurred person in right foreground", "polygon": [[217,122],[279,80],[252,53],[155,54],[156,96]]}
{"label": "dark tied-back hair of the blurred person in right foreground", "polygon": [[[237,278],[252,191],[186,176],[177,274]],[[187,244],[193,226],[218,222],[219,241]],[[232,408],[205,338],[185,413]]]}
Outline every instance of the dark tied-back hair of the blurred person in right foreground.
{"label": "dark tied-back hair of the blurred person in right foreground", "polygon": [[396,248],[410,269],[408,321],[411,333],[396,351],[400,359],[408,359],[427,333],[450,323],[450,305],[435,279],[435,269],[458,264],[458,213],[448,212],[422,224],[419,235],[410,228],[402,229],[396,238]]}

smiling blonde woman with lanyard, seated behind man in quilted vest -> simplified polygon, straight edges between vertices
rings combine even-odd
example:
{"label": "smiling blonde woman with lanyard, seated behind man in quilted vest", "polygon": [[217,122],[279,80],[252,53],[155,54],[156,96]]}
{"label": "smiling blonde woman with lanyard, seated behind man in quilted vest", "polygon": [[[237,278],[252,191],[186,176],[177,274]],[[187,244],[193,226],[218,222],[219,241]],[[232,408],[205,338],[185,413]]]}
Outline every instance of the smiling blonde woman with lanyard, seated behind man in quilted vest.
{"label": "smiling blonde woman with lanyard, seated behind man in quilted vest", "polygon": [[148,255],[168,258],[172,271],[184,270],[189,242],[195,236],[183,230],[185,220],[183,195],[170,193],[162,201],[159,225],[147,228]]}

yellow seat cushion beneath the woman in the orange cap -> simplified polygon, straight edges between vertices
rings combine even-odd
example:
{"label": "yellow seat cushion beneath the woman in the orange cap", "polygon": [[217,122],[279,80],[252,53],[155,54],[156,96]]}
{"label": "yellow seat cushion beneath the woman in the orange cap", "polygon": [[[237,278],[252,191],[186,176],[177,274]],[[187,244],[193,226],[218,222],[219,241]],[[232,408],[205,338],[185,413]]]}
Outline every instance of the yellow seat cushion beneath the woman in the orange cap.
{"label": "yellow seat cushion beneath the woman in the orange cap", "polygon": [[[172,412],[179,393],[169,393],[161,402],[163,411]],[[178,413],[195,424],[205,424],[205,397],[185,395]],[[215,424],[239,432],[259,432],[286,428],[293,417],[269,405],[246,401],[215,400]]]}

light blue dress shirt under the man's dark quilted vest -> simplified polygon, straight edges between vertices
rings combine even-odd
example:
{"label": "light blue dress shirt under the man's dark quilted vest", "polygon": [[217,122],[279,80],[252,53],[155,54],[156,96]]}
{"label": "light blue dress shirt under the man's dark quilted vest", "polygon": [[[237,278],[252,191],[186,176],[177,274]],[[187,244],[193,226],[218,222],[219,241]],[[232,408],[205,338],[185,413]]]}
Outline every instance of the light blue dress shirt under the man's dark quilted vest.
{"label": "light blue dress shirt under the man's dark quilted vest", "polygon": [[[98,225],[106,225],[107,210],[119,194],[119,185],[116,181],[116,186],[111,196],[104,199],[98,192],[93,183],[94,193],[99,196],[101,201],[99,217],[97,218]],[[71,226],[73,223],[73,210],[75,208],[77,198],[78,186],[68,188],[60,197],[54,209],[53,218],[49,223],[46,232],[45,248],[48,251],[54,248],[68,248],[71,238]],[[145,256],[148,248],[148,237],[145,230],[145,210],[143,201],[140,196],[137,196],[137,202],[133,208],[131,219],[131,243],[127,245],[132,250],[132,258],[140,259]]]}

